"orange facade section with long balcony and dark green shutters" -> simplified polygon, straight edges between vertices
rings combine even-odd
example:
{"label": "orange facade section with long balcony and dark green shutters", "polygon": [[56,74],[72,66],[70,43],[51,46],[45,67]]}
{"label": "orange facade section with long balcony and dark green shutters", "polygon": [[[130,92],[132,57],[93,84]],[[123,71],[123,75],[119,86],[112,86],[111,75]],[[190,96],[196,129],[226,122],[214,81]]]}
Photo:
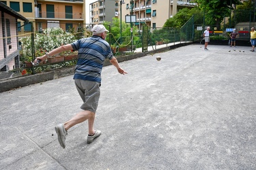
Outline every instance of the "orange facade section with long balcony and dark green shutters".
{"label": "orange facade section with long balcony and dark green shutters", "polygon": [[36,31],[61,27],[68,31],[85,24],[85,0],[35,0]]}

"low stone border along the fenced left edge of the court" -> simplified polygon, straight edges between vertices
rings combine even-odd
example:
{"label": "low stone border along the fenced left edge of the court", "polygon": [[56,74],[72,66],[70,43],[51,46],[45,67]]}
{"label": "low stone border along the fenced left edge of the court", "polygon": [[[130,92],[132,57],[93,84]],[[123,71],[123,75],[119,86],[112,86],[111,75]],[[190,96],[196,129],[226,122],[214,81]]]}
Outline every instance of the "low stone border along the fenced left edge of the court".
{"label": "low stone border along the fenced left edge of the court", "polygon": [[[167,50],[173,50],[175,48],[179,48],[181,46],[188,46],[190,44],[193,44],[192,42],[190,43],[184,43],[184,44],[175,44],[173,46],[167,46],[165,48],[159,48],[156,50],[151,50],[149,52],[139,52],[137,54],[131,54],[131,55],[126,55],[126,56],[117,56],[117,61],[119,63],[122,63],[123,61],[128,61],[132,60],[134,58],[139,58],[143,56],[147,56],[147,54],[156,54],[158,52],[165,52]],[[104,61],[103,66],[111,65],[111,63],[106,60]],[[20,88],[23,86],[29,86],[31,84],[36,84],[40,82],[46,82],[48,80],[54,80],[57,78],[62,78],[67,75],[72,75],[74,74],[74,67],[66,67],[62,69],[55,69],[53,71],[45,71],[42,73],[36,73],[34,75],[22,75],[18,76],[15,78],[8,78],[8,79],[3,79],[0,80],[0,92],[5,92],[8,90],[13,90],[15,88]]]}

